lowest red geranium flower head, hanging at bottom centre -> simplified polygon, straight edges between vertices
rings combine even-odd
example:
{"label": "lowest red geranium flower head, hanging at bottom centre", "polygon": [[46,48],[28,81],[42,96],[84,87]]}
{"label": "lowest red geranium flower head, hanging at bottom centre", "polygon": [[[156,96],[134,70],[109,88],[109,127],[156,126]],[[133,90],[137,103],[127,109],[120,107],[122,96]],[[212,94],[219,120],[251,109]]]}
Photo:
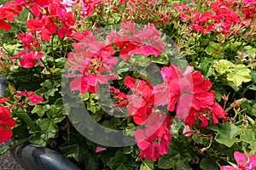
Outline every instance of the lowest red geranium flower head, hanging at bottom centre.
{"label": "lowest red geranium flower head, hanging at bottom centre", "polygon": [[168,153],[171,143],[171,116],[153,112],[147,121],[145,129],[137,129],[135,139],[141,149],[140,158],[156,161]]}

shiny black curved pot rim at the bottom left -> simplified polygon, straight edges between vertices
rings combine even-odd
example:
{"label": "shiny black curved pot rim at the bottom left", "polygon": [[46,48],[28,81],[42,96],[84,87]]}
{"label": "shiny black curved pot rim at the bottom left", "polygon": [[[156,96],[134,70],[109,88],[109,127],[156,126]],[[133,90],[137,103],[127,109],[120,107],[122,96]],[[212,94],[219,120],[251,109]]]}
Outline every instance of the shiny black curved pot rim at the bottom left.
{"label": "shiny black curved pot rim at the bottom left", "polygon": [[80,170],[58,152],[35,144],[20,144],[11,152],[25,170]]}

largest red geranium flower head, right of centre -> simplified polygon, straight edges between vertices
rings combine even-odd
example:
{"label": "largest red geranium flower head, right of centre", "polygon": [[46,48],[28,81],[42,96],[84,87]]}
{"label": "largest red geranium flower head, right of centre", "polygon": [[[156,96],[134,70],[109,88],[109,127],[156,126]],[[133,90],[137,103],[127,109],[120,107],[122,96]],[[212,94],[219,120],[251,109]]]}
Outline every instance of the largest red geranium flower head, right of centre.
{"label": "largest red geranium flower head, right of centre", "polygon": [[205,79],[201,72],[191,71],[193,68],[188,66],[183,73],[181,68],[174,65],[161,70],[162,77],[168,85],[167,89],[163,89],[169,94],[165,97],[168,101],[168,111],[176,109],[177,118],[184,120],[189,126],[195,125],[196,118],[201,121],[201,127],[208,126],[210,116],[213,124],[218,123],[219,118],[227,119],[227,113],[215,100],[214,91],[209,92],[212,82]]}

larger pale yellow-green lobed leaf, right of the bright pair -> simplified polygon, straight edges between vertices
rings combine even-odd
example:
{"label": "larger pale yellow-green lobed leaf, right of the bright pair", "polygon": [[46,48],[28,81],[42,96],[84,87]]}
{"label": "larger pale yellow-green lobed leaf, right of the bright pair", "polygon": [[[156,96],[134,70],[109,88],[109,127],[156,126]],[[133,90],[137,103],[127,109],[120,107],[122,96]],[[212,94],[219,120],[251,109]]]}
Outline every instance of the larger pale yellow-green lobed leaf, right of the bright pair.
{"label": "larger pale yellow-green lobed leaf, right of the bright pair", "polygon": [[250,82],[252,77],[251,70],[246,65],[236,65],[234,71],[227,74],[227,80],[234,82],[236,86],[240,86],[242,82]]}

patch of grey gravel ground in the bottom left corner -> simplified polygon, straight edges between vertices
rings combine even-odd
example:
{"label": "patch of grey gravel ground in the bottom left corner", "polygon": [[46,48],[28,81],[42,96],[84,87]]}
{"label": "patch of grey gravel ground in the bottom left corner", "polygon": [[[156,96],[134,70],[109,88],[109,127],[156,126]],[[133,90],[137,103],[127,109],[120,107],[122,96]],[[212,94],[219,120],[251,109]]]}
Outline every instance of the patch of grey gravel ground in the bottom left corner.
{"label": "patch of grey gravel ground in the bottom left corner", "polygon": [[[0,148],[3,144],[0,144]],[[8,151],[3,156],[0,156],[0,170],[23,170],[20,164],[15,161],[15,158]]]}

